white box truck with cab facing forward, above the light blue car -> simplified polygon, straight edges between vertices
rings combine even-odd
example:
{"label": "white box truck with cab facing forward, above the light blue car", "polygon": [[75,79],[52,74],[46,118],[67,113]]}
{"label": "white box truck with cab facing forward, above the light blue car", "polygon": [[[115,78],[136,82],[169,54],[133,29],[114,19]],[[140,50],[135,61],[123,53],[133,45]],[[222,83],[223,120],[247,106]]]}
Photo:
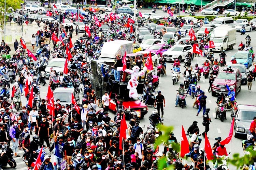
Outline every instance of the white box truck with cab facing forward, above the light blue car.
{"label": "white box truck with cab facing forward, above the light blue car", "polygon": [[236,45],[236,29],[231,27],[217,27],[214,29],[211,38],[213,38],[214,48],[213,51],[220,51],[226,49],[233,49],[233,46]]}

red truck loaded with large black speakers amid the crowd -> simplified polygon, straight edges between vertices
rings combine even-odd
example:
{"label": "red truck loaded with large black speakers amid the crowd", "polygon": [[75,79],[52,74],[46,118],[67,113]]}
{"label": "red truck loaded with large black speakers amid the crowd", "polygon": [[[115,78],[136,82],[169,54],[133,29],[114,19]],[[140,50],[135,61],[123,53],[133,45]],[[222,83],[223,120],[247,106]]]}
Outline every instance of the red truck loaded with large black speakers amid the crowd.
{"label": "red truck loaded with large black speakers amid the crowd", "polygon": [[[131,75],[126,72],[120,72],[121,80],[116,82],[114,79],[114,60],[102,59],[91,61],[91,74],[90,80],[92,87],[95,89],[97,100],[99,99],[99,107],[102,107],[102,96],[105,91],[109,93],[109,109],[114,113],[116,112],[116,106],[122,101],[123,109],[126,118],[129,119],[130,112],[137,112],[138,117],[141,119],[147,114],[147,106],[138,98],[133,99],[129,97],[129,89],[127,89],[128,81]],[[133,65],[131,65],[133,67]],[[106,73],[106,74],[105,74]],[[146,72],[144,75],[138,78],[137,92],[143,94],[143,88],[146,78]]]}

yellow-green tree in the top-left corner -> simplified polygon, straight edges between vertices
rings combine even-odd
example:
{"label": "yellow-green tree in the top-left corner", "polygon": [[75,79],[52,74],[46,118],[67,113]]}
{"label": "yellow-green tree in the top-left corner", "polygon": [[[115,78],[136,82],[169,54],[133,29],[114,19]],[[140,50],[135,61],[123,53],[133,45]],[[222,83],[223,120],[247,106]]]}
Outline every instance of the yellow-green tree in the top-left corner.
{"label": "yellow-green tree in the top-left corner", "polygon": [[[16,9],[21,8],[20,4],[24,3],[22,0],[5,0],[6,1],[6,13],[15,11]],[[3,29],[4,26],[4,0],[0,0],[0,23],[1,23],[1,29]],[[8,16],[6,16],[8,17]],[[7,19],[7,18],[6,18]]]}

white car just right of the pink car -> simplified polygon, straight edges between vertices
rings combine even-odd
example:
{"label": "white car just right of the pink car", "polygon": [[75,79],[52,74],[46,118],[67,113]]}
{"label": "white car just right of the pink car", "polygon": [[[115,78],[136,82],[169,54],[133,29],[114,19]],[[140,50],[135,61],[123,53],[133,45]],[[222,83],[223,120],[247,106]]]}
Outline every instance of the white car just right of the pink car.
{"label": "white car just right of the pink car", "polygon": [[180,61],[182,61],[185,59],[188,52],[193,53],[192,46],[177,44],[169,50],[163,52],[162,56],[165,56],[166,60],[175,61],[175,59],[178,58]]}

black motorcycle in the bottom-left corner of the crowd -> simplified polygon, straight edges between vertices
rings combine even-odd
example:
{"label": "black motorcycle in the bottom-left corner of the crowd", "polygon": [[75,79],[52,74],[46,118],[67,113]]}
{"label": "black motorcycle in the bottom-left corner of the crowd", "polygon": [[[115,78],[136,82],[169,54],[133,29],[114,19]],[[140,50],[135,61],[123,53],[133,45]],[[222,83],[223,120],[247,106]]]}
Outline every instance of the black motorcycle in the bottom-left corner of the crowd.
{"label": "black motorcycle in the bottom-left corner of the crowd", "polygon": [[10,167],[16,168],[17,164],[12,157],[14,154],[13,154],[12,149],[9,147],[9,145],[4,144],[2,147],[2,152],[5,152],[1,158],[2,166],[6,167],[8,164],[8,165],[10,165]]}

